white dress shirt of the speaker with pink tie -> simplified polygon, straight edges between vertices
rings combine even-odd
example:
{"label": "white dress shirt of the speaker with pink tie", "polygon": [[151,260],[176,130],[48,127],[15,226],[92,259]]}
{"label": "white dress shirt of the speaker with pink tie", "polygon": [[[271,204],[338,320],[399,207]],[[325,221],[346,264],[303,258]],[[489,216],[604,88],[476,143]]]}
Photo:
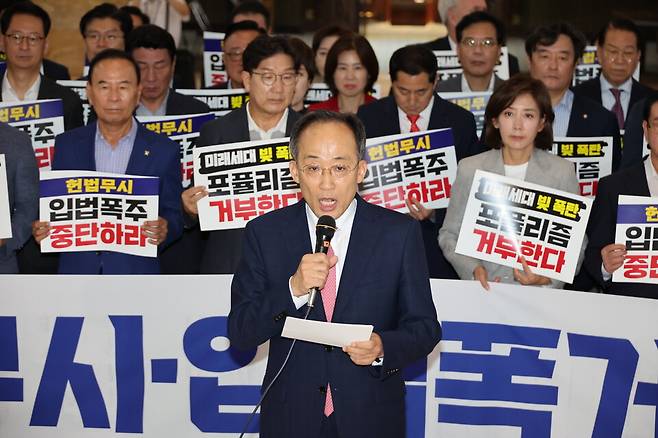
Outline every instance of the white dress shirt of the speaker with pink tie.
{"label": "white dress shirt of the speaker with pink tie", "polygon": [[[336,263],[336,297],[338,297],[338,289],[340,286],[340,277],[343,273],[343,266],[345,265],[345,257],[347,256],[347,246],[350,243],[350,235],[352,234],[352,224],[354,223],[354,215],[356,213],[356,199],[354,199],[347,210],[336,219],[336,233],[331,239],[331,247],[334,250],[334,255],[338,257]],[[311,237],[311,243],[315,246],[315,225],[318,223],[318,217],[313,213],[313,210],[306,204],[306,222],[308,223],[308,234]],[[290,277],[290,281],[292,277]],[[295,303],[297,309],[308,303],[308,294],[296,297],[292,293],[292,284],[289,283],[290,294],[292,301]]]}

